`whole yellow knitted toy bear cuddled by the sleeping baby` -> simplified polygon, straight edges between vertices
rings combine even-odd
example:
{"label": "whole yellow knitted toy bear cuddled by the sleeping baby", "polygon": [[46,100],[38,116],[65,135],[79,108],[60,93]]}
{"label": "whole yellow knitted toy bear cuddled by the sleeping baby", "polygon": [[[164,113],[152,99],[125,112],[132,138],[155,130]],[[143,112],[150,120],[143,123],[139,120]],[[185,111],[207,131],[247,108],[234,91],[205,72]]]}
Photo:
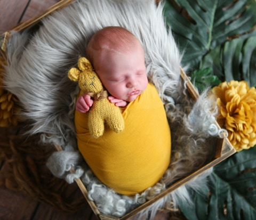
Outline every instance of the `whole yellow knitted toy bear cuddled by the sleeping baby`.
{"label": "whole yellow knitted toy bear cuddled by the sleeping baby", "polygon": [[104,132],[104,124],[120,133],[124,129],[124,119],[121,110],[107,99],[108,92],[103,89],[98,75],[93,71],[91,63],[82,57],[78,60],[78,68],[71,68],[68,72],[69,79],[78,82],[84,94],[93,98],[93,105],[89,110],[88,127],[94,138],[100,137]]}

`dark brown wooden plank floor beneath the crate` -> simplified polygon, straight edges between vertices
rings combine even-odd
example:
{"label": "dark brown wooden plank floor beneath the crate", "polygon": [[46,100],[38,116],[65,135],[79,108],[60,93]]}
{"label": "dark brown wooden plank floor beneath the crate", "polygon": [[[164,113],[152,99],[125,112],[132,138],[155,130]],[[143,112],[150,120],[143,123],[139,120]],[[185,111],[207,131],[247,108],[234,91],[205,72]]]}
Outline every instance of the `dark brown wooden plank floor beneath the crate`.
{"label": "dark brown wooden plank floor beneath the crate", "polygon": [[[59,0],[0,0],[0,34],[7,30],[11,30],[19,23],[25,22],[35,15],[43,12]],[[9,129],[0,128],[0,134],[8,135]],[[0,140],[0,147],[1,147]],[[1,150],[1,148],[0,148]],[[6,169],[6,162],[0,158],[0,175]],[[73,186],[77,186],[73,184]],[[78,189],[78,188],[77,188]],[[81,197],[82,193],[77,192],[77,196]],[[0,188],[0,219],[1,220],[95,220],[98,219],[90,209],[86,201],[81,210],[73,214],[65,214],[62,211],[54,209],[51,205],[39,202],[35,198],[30,197],[23,191],[13,191]],[[133,218],[136,219],[136,218]],[[155,219],[184,219],[170,216],[166,213],[158,213]]]}

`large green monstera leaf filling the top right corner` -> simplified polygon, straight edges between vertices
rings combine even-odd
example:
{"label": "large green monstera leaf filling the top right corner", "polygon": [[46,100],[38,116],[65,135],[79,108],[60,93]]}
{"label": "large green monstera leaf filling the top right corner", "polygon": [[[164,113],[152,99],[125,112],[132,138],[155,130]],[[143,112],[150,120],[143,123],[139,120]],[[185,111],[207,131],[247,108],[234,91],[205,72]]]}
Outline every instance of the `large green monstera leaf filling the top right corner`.
{"label": "large green monstera leaf filling the top right corner", "polygon": [[205,54],[236,36],[250,36],[256,25],[254,0],[166,0],[166,23],[181,51],[182,64],[198,66]]}

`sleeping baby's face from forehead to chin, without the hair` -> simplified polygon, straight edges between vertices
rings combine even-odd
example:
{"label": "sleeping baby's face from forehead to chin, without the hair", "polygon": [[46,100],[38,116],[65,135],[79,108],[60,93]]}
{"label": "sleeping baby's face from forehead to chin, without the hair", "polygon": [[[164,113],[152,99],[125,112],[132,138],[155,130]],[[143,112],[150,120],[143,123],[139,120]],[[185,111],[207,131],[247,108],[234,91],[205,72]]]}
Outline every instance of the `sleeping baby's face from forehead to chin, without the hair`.
{"label": "sleeping baby's face from forehead to chin, without the hair", "polygon": [[148,79],[142,47],[127,53],[103,51],[98,58],[94,69],[112,96],[131,102],[145,91]]}

